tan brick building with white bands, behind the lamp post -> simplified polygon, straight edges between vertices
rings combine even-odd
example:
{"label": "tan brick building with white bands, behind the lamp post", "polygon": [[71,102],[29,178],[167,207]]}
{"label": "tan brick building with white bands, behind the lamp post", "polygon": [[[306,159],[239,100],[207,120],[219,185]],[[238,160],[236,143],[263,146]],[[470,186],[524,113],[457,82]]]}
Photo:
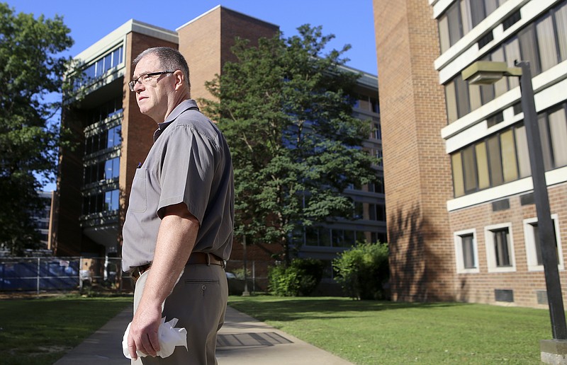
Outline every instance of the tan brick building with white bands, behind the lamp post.
{"label": "tan brick building with white bands, behind the lamp post", "polygon": [[565,282],[567,1],[374,0],[374,18],[393,299],[546,306],[518,80],[461,71],[532,66]]}

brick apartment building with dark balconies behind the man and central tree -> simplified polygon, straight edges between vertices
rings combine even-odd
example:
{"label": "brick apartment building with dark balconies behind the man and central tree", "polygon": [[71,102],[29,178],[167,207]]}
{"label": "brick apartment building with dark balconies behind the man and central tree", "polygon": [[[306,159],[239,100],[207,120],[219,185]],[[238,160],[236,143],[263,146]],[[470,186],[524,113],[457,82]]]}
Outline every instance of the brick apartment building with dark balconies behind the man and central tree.
{"label": "brick apartment building with dark balconies behind the man and central tree", "polygon": [[[60,155],[52,224],[52,249],[56,255],[120,253],[121,225],[135,168],[150,150],[156,129],[155,122],[140,113],[135,95],[128,89],[132,60],[137,54],[155,46],[179,49],[189,63],[192,98],[210,98],[205,81],[220,74],[225,62],[234,60],[230,47],[235,36],[254,44],[259,37],[272,37],[278,30],[277,25],[217,6],[175,31],[130,20],[75,57],[84,64],[91,81],[83,85],[84,98],[69,100],[62,115],[62,126],[72,130],[77,149],[64,149]],[[360,98],[353,112],[374,126],[364,147],[379,156],[377,77],[363,73],[357,92]],[[364,217],[332,228],[322,226],[328,233],[327,241],[306,242],[302,255],[331,260],[347,247],[333,243],[339,242],[338,235],[344,238],[347,232],[353,238],[360,238],[362,233],[369,240],[384,241],[381,167],[376,171],[376,184],[347,192],[361,207]],[[251,247],[248,259],[271,260],[274,250],[277,248]],[[242,245],[235,243],[231,260],[240,259]]]}

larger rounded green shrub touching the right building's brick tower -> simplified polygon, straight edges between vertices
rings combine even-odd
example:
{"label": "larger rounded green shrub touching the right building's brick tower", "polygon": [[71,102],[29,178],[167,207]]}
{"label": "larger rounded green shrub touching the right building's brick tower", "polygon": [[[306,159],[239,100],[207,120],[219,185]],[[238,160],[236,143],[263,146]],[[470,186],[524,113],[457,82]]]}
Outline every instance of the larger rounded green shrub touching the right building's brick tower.
{"label": "larger rounded green shrub touching the right building's brick tower", "polygon": [[390,276],[387,243],[359,243],[333,260],[335,279],[354,299],[386,299]]}

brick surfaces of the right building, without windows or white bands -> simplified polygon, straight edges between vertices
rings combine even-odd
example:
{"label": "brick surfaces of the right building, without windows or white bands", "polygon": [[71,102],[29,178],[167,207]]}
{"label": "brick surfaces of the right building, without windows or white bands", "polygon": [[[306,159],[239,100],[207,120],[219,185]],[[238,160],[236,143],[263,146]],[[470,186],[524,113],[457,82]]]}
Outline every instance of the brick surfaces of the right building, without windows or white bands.
{"label": "brick surfaces of the right building, without windows or white bands", "polygon": [[[441,136],[447,112],[434,69],[439,35],[432,6],[374,0],[374,19],[393,299],[509,303],[496,300],[502,289],[513,292],[509,304],[546,307],[544,272],[530,271],[527,263],[524,219],[537,216],[533,203],[522,205],[521,195],[512,195],[503,198],[510,207],[502,210],[493,202],[447,209],[453,199],[451,163]],[[567,242],[566,196],[567,184],[549,187],[561,243]],[[485,229],[496,224],[510,225],[515,259],[510,272],[489,272]],[[465,230],[476,232],[478,272],[457,272],[454,233]],[[560,275],[565,282],[566,272]]]}

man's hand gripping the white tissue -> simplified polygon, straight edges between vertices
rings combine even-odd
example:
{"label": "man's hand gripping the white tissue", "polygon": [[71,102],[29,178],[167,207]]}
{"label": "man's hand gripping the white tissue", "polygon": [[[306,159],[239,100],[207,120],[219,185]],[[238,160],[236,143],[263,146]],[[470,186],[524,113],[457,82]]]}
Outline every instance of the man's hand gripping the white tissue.
{"label": "man's hand gripping the white tissue", "polygon": [[161,322],[161,306],[144,306],[140,303],[128,334],[128,352],[132,359],[137,359],[137,350],[152,357],[156,356],[159,351],[157,331]]}

